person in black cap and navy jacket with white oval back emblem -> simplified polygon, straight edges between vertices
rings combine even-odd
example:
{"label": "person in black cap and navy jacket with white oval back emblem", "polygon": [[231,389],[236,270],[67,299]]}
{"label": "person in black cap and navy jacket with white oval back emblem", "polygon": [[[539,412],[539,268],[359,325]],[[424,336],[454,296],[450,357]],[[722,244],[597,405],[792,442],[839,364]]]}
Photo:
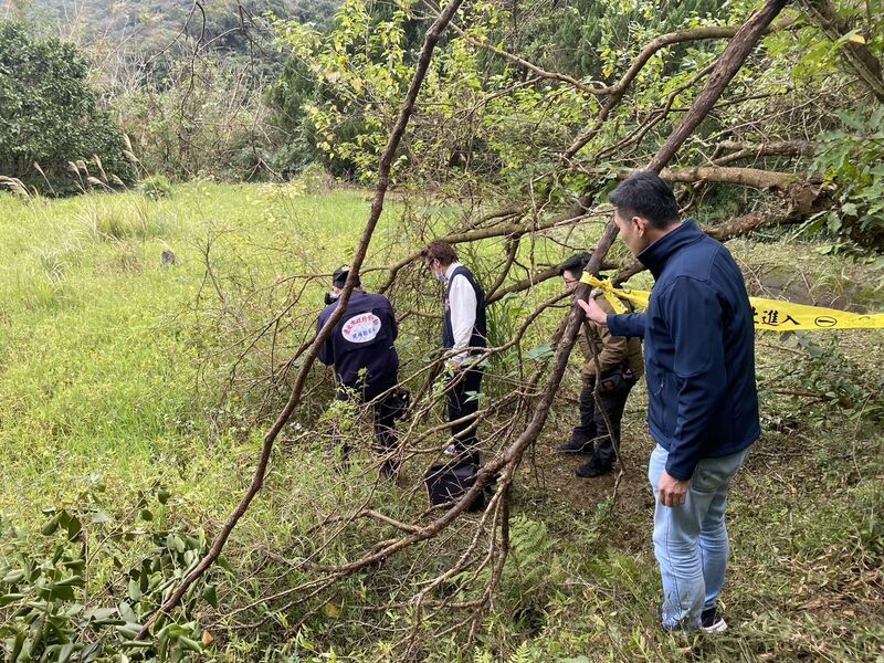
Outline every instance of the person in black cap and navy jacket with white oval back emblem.
{"label": "person in black cap and navy jacket with white oval back emblem", "polygon": [[[328,306],[319,314],[317,333],[338,306],[338,298],[349,275],[349,267],[337,270],[332,280],[332,292],[326,294]],[[399,381],[399,356],[393,341],[399,334],[390,301],[383,295],[372,295],[361,287],[359,278],[347,304],[347,311],[319,350],[318,359],[335,367],[338,386],[337,399],[356,398],[370,403],[375,418],[375,438],[378,451],[390,453],[397,445],[394,429],[399,413],[394,388]],[[341,449],[346,464],[349,448]],[[398,462],[385,460],[381,473],[393,477]]]}

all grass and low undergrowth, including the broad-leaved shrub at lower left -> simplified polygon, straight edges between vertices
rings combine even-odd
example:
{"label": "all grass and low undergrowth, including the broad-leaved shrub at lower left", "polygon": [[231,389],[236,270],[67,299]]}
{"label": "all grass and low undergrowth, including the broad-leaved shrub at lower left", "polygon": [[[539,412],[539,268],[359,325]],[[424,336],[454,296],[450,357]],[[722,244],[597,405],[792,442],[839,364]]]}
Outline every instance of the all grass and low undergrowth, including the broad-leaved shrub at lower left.
{"label": "all grass and low undergrowth, including the broad-leaved shrub at lower left", "polygon": [[[425,509],[423,473],[443,442],[431,435],[430,451],[407,460],[403,478],[390,485],[378,481],[369,427],[357,421],[354,466],[336,472],[328,424],[346,413],[326,413],[333,386],[317,368],[224,564],[148,644],[131,643],[245,491],[263,427],[297,368],[287,359],[315,330],[324,275],[351,259],[366,200],[305,187],[202,183],[155,200],[0,198],[0,649],[17,652],[12,660],[24,660],[25,646],[35,660],[85,659],[94,648],[96,661],[876,660],[884,644],[881,332],[759,335],[765,433],[732,494],[723,597],[732,628],[720,636],[680,640],[657,628],[641,390],[624,421],[627,471],[617,494],[613,480],[578,484],[570,470],[554,471],[565,463],[554,449],[575,417],[575,360],[517,475],[508,559],[475,621],[473,606],[494,578],[488,567],[439,583],[414,628],[415,594],[464,554],[475,515],[314,585],[402,535],[396,523]],[[398,229],[391,213],[370,266],[407,254],[413,238]],[[501,249],[483,243],[467,260],[491,274]],[[807,281],[820,304],[881,305],[862,269],[811,246],[734,249],[755,292],[790,294]],[[164,251],[175,252],[176,264],[164,265]],[[530,251],[557,256],[554,242]],[[799,260],[797,277],[771,280],[772,266]],[[315,277],[296,283],[295,273]],[[367,272],[369,288],[383,275]],[[390,293],[397,308],[428,314],[409,316],[398,343],[403,375],[417,373],[436,343],[439,291],[419,270],[401,281]],[[495,305],[495,343],[558,287],[548,282]],[[296,297],[298,306],[257,336]],[[548,358],[561,313],[545,314],[522,355],[490,368],[487,394],[507,393]],[[440,423],[438,410],[421,425]],[[348,520],[361,505],[387,520]]]}

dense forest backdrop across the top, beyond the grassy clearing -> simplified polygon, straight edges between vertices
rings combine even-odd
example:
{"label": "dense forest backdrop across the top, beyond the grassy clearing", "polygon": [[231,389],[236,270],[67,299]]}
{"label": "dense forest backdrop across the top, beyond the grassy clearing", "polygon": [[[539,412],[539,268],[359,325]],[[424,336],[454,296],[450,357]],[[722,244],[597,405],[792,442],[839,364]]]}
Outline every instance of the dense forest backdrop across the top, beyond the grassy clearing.
{"label": "dense forest backdrop across the top, beyond the grassy clearing", "polygon": [[[580,178],[610,179],[617,168],[641,164],[720,52],[716,27],[747,15],[751,7],[708,0],[538,0],[464,10],[463,27],[443,38],[444,53],[425,93],[425,117],[415,117],[414,137],[401,148],[410,167],[400,183],[429,178],[448,186],[456,179],[455,196],[486,183],[496,193],[520,196],[527,155],[540,156],[532,159],[529,172],[550,167],[556,155],[568,154],[565,141],[586,114],[601,110],[604,126],[576,156],[583,158],[597,144],[602,159],[590,159],[582,173],[575,171],[578,165],[559,182],[557,194],[579,199],[590,188],[598,191]],[[82,106],[73,124],[91,134],[88,139],[73,135],[70,122],[61,128],[61,108],[51,107],[61,98],[41,108],[41,125],[24,120],[41,102],[10,97],[15,104],[7,105],[20,109],[0,134],[0,170],[57,193],[81,187],[69,164],[87,164],[96,155],[110,166],[103,169],[105,177],[115,175],[126,186],[136,176],[152,175],[171,181],[278,181],[311,165],[367,182],[432,9],[410,1],[7,0],[2,12],[6,30],[18,31],[20,40],[6,39],[9,49],[28,42],[48,57],[53,50],[73,49],[67,71],[57,63],[51,71],[55,85],[71,81],[76,88],[67,91]],[[838,178],[839,200],[823,200],[828,188],[815,187],[792,210],[810,204],[817,213],[841,203],[846,214],[827,215],[814,228],[828,224],[853,240],[878,242],[882,210],[867,204],[880,179],[876,106],[884,93],[877,19],[872,4],[820,1],[780,21],[766,38],[765,55],[744,69],[681,162],[762,166],[800,173],[806,181]],[[624,85],[631,86],[628,104],[609,112],[598,105],[603,95],[588,94],[593,85],[611,86],[628,73],[646,42],[701,28],[712,31],[709,38],[676,36],[671,45],[664,40],[665,59],[653,51]],[[14,63],[12,54],[10,66],[24,76]],[[872,106],[855,103],[869,95]],[[459,110],[455,99],[473,106]],[[620,141],[611,143],[615,135]],[[857,147],[867,151],[869,167],[845,160]],[[750,170],[681,172],[678,179],[702,180],[705,199],[717,191],[725,211],[732,211],[728,187],[745,188],[747,177],[756,190],[782,194],[788,188],[782,177]]]}

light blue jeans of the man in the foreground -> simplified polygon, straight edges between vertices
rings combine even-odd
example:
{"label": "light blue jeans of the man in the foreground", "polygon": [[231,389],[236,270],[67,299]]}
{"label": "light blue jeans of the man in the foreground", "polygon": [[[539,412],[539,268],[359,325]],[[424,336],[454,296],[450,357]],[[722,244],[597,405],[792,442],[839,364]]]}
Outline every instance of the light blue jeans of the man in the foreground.
{"label": "light blue jeans of the man in the foreground", "polygon": [[651,454],[648,478],[656,497],[654,555],[663,579],[664,629],[699,629],[701,613],[722,593],[729,551],[727,493],[749,449],[699,461],[685,503],[675,508],[661,505],[656,490],[669,452],[657,444]]}

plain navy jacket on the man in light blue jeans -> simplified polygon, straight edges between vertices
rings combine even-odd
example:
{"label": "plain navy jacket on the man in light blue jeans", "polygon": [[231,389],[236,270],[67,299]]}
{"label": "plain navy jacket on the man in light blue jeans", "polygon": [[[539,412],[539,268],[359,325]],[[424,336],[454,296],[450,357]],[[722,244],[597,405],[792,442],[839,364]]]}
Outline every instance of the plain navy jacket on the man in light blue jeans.
{"label": "plain navy jacket on the man in light blue jeans", "polygon": [[648,423],[686,481],[697,462],[737,453],[761,433],[755,329],[730,253],[685,221],[639,254],[654,275],[648,311],[609,315],[613,336],[643,336]]}

